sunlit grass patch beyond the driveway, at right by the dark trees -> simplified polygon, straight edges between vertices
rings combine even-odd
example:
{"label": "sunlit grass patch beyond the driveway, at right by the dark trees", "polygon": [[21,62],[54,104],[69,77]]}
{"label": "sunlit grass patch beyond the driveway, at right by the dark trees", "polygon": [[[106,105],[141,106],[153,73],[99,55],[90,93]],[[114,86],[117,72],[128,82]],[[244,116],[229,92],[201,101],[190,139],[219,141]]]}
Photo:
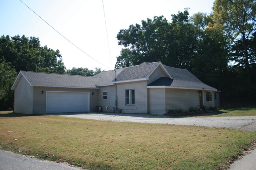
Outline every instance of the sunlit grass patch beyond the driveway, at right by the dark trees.
{"label": "sunlit grass patch beyond the driveway, at right by the dark trees", "polygon": [[[256,107],[236,107],[232,109],[221,109],[213,115],[200,117],[226,117],[226,116],[256,116]],[[197,117],[197,116],[196,116]]]}

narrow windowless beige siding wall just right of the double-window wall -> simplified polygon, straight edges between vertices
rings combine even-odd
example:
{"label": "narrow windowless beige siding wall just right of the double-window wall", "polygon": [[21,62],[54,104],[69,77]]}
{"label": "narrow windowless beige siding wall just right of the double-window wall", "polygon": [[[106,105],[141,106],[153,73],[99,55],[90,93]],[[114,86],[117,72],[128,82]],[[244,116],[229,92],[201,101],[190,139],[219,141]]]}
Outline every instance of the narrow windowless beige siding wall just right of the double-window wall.
{"label": "narrow windowless beige siding wall just right of the double-window wall", "polygon": [[165,111],[164,88],[148,88],[148,113],[163,115]]}

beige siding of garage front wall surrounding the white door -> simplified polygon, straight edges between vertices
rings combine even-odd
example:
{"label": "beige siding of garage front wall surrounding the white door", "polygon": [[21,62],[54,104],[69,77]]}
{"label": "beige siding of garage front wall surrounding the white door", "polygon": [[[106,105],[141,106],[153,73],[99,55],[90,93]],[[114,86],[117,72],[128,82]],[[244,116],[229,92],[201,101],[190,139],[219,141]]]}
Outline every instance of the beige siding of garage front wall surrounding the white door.
{"label": "beige siding of garage front wall surrounding the white door", "polygon": [[[44,91],[44,94],[42,94],[42,90]],[[99,89],[34,87],[33,112],[35,114],[46,113],[46,91],[90,92],[90,111],[96,111],[96,106],[98,106],[98,90]],[[94,95],[92,95],[92,92],[94,92]]]}

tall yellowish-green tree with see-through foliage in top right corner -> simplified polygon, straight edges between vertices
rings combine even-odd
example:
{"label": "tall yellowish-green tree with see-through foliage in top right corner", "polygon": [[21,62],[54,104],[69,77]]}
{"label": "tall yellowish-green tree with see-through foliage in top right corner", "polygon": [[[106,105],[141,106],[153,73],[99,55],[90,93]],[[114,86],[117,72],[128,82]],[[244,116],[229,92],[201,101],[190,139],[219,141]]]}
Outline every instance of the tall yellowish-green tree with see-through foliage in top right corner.
{"label": "tall yellowish-green tree with see-through foliage in top right corner", "polygon": [[214,21],[223,25],[225,35],[233,46],[232,60],[246,69],[249,85],[252,55],[248,49],[248,40],[256,28],[256,1],[215,0],[213,11]]}

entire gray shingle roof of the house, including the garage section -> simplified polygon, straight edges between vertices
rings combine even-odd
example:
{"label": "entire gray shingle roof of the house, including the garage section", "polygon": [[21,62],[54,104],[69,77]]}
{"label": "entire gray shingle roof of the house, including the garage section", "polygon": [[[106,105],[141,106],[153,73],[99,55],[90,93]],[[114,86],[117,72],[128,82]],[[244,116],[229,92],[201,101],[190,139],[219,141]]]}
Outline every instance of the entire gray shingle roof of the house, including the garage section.
{"label": "entire gray shingle roof of the house, including the garage section", "polygon": [[[137,66],[130,66],[116,70],[116,81],[136,80],[146,78],[156,68],[160,62],[144,62]],[[212,89],[201,82],[196,76],[186,69],[174,68],[163,65],[170,78],[159,78],[148,86],[171,86],[179,88],[205,88]],[[74,87],[74,88],[96,88],[99,85],[112,84],[115,81],[114,70],[100,72],[93,77],[76,76],[70,74],[53,74],[43,72],[21,71],[32,86],[49,86],[49,87]],[[14,82],[14,88],[18,82]],[[12,88],[12,89],[14,89]]]}

